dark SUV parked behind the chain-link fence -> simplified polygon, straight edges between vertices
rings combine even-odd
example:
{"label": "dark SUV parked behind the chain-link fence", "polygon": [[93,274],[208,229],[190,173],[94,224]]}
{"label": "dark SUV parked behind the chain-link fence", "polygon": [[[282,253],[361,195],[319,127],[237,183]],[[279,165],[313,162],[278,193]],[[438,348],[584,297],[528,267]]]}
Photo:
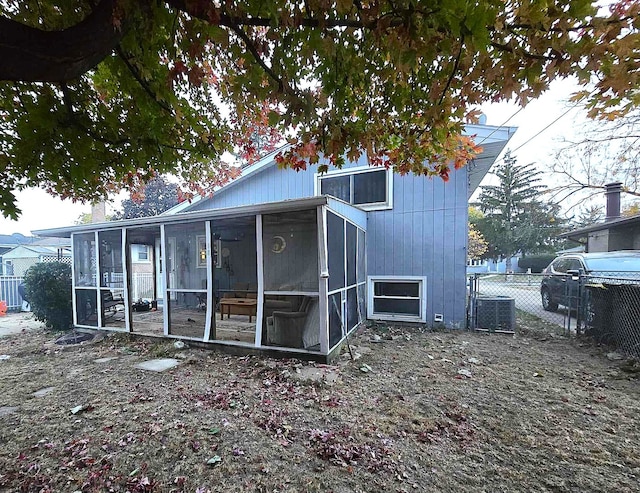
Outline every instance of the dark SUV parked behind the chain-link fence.
{"label": "dark SUV parked behind the chain-link fence", "polygon": [[[576,299],[580,275],[630,279],[640,283],[640,250],[569,253],[555,258],[542,273],[542,308],[555,311],[558,305],[570,306],[571,300]],[[573,301],[573,305],[575,303]]]}

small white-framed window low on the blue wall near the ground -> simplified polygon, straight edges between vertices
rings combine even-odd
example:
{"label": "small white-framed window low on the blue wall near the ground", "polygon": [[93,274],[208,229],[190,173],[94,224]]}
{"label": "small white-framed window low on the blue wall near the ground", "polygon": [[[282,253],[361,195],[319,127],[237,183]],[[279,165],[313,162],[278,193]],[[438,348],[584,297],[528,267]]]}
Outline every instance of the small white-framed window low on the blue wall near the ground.
{"label": "small white-framed window low on the blue wall near the ground", "polygon": [[424,277],[369,277],[369,318],[426,322]]}

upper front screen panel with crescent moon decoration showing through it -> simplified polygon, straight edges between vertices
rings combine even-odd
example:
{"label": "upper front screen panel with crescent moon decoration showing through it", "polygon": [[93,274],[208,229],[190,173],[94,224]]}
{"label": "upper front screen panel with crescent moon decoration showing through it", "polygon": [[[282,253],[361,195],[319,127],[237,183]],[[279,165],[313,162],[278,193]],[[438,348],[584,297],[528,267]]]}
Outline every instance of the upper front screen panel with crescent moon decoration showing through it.
{"label": "upper front screen panel with crescent moon decoration showing through it", "polygon": [[315,209],[262,216],[264,290],[318,292]]}

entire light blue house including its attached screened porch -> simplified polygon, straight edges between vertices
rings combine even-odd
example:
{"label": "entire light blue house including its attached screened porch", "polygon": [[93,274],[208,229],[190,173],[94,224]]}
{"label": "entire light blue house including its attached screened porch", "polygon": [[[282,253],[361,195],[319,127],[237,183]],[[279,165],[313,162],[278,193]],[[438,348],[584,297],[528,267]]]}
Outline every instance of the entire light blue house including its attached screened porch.
{"label": "entire light blue house including its attached screened porch", "polygon": [[[131,245],[154,245],[147,255],[165,336],[330,359],[365,318],[464,327],[468,199],[514,131],[470,126],[483,153],[446,183],[364,157],[324,175],[282,170],[273,153],[213,197],[161,216],[38,234],[73,239],[78,326],[109,326],[98,292],[131,277]],[[231,313],[214,317],[214,301],[256,317],[247,344],[225,339]],[[125,305],[118,329],[135,332],[143,322]],[[202,322],[196,307],[206,310]]]}

